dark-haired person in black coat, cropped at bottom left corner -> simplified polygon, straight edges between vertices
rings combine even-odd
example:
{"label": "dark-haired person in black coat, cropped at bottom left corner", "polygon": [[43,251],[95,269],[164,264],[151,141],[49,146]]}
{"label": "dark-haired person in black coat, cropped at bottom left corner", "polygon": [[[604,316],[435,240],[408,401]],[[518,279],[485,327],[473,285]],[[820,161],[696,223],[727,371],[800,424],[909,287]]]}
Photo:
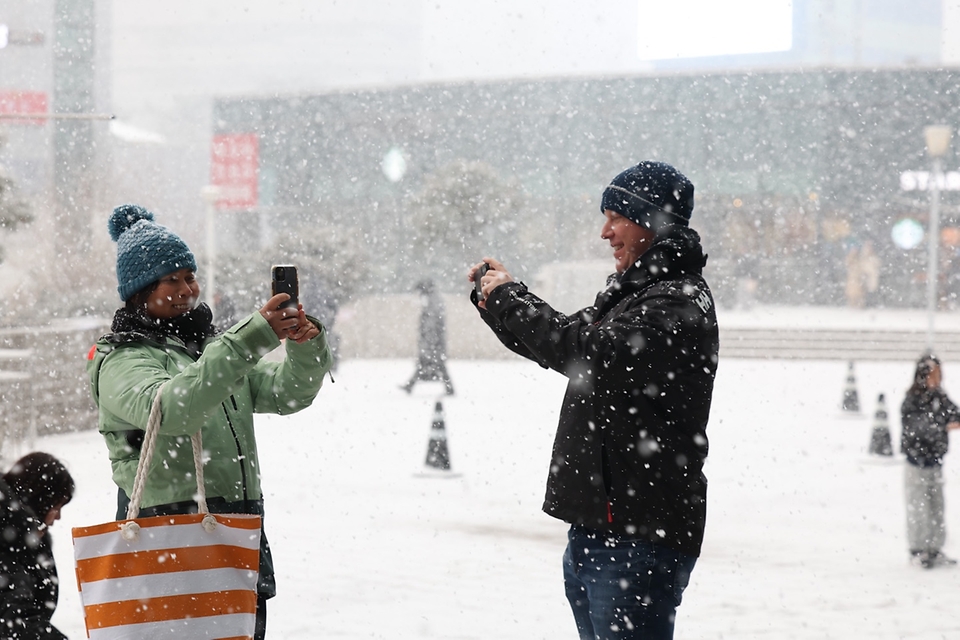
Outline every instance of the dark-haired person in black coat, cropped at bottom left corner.
{"label": "dark-haired person in black coat, cropped at bottom left corner", "polygon": [[48,453],[17,460],[0,479],[0,637],[65,640],[51,624],[60,596],[49,529],[73,498],[70,473]]}

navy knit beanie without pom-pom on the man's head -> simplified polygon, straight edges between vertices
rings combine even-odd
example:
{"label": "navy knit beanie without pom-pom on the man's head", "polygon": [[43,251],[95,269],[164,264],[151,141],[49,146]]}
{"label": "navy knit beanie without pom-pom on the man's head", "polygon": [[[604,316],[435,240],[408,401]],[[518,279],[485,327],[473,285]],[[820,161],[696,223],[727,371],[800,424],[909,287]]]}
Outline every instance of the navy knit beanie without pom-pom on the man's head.
{"label": "navy knit beanie without pom-pom on the man's head", "polygon": [[693,214],[693,183],[665,162],[645,160],[604,190],[600,212],[607,209],[654,231],[668,224],[687,226]]}

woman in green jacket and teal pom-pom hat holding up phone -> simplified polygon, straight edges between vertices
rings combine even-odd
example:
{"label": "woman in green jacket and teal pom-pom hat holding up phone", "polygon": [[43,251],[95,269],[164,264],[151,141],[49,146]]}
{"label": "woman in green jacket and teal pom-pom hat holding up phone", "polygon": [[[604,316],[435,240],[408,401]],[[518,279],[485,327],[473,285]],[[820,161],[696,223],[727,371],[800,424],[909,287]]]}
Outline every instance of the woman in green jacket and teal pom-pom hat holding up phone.
{"label": "woman in green jacket and teal pom-pom hat holding up phone", "polygon": [[[332,365],[323,327],[300,305],[281,308],[289,296],[278,294],[218,332],[210,308],[197,304],[193,254],[153,220],[137,205],[113,211],[109,231],[117,243],[117,290],[125,304],[87,363],[119,487],[117,519],[126,518],[158,390],[162,419],[140,516],[196,512],[190,437],[200,431],[210,511],[262,517],[253,414],[285,415],[310,406]],[[285,358],[265,360],[283,340]],[[275,594],[270,547],[262,535],[257,638],[264,637],[266,600]]]}

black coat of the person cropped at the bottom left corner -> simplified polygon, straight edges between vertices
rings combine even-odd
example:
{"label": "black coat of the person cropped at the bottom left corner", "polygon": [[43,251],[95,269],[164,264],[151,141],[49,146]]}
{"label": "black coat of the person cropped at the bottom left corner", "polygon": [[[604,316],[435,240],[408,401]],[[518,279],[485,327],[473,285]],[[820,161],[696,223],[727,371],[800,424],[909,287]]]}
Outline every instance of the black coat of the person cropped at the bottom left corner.
{"label": "black coat of the person cropped at the bottom left corner", "polygon": [[66,640],[50,618],[59,581],[50,533],[0,479],[0,639]]}

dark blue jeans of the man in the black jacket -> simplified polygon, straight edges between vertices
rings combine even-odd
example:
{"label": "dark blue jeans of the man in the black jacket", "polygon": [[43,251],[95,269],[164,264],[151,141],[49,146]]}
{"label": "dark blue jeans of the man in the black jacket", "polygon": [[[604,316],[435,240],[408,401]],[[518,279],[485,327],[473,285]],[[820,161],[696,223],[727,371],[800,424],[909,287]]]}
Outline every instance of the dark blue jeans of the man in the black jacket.
{"label": "dark blue jeans of the man in the black jacket", "polygon": [[697,559],[653,544],[573,525],[563,582],[580,640],[670,640]]}

